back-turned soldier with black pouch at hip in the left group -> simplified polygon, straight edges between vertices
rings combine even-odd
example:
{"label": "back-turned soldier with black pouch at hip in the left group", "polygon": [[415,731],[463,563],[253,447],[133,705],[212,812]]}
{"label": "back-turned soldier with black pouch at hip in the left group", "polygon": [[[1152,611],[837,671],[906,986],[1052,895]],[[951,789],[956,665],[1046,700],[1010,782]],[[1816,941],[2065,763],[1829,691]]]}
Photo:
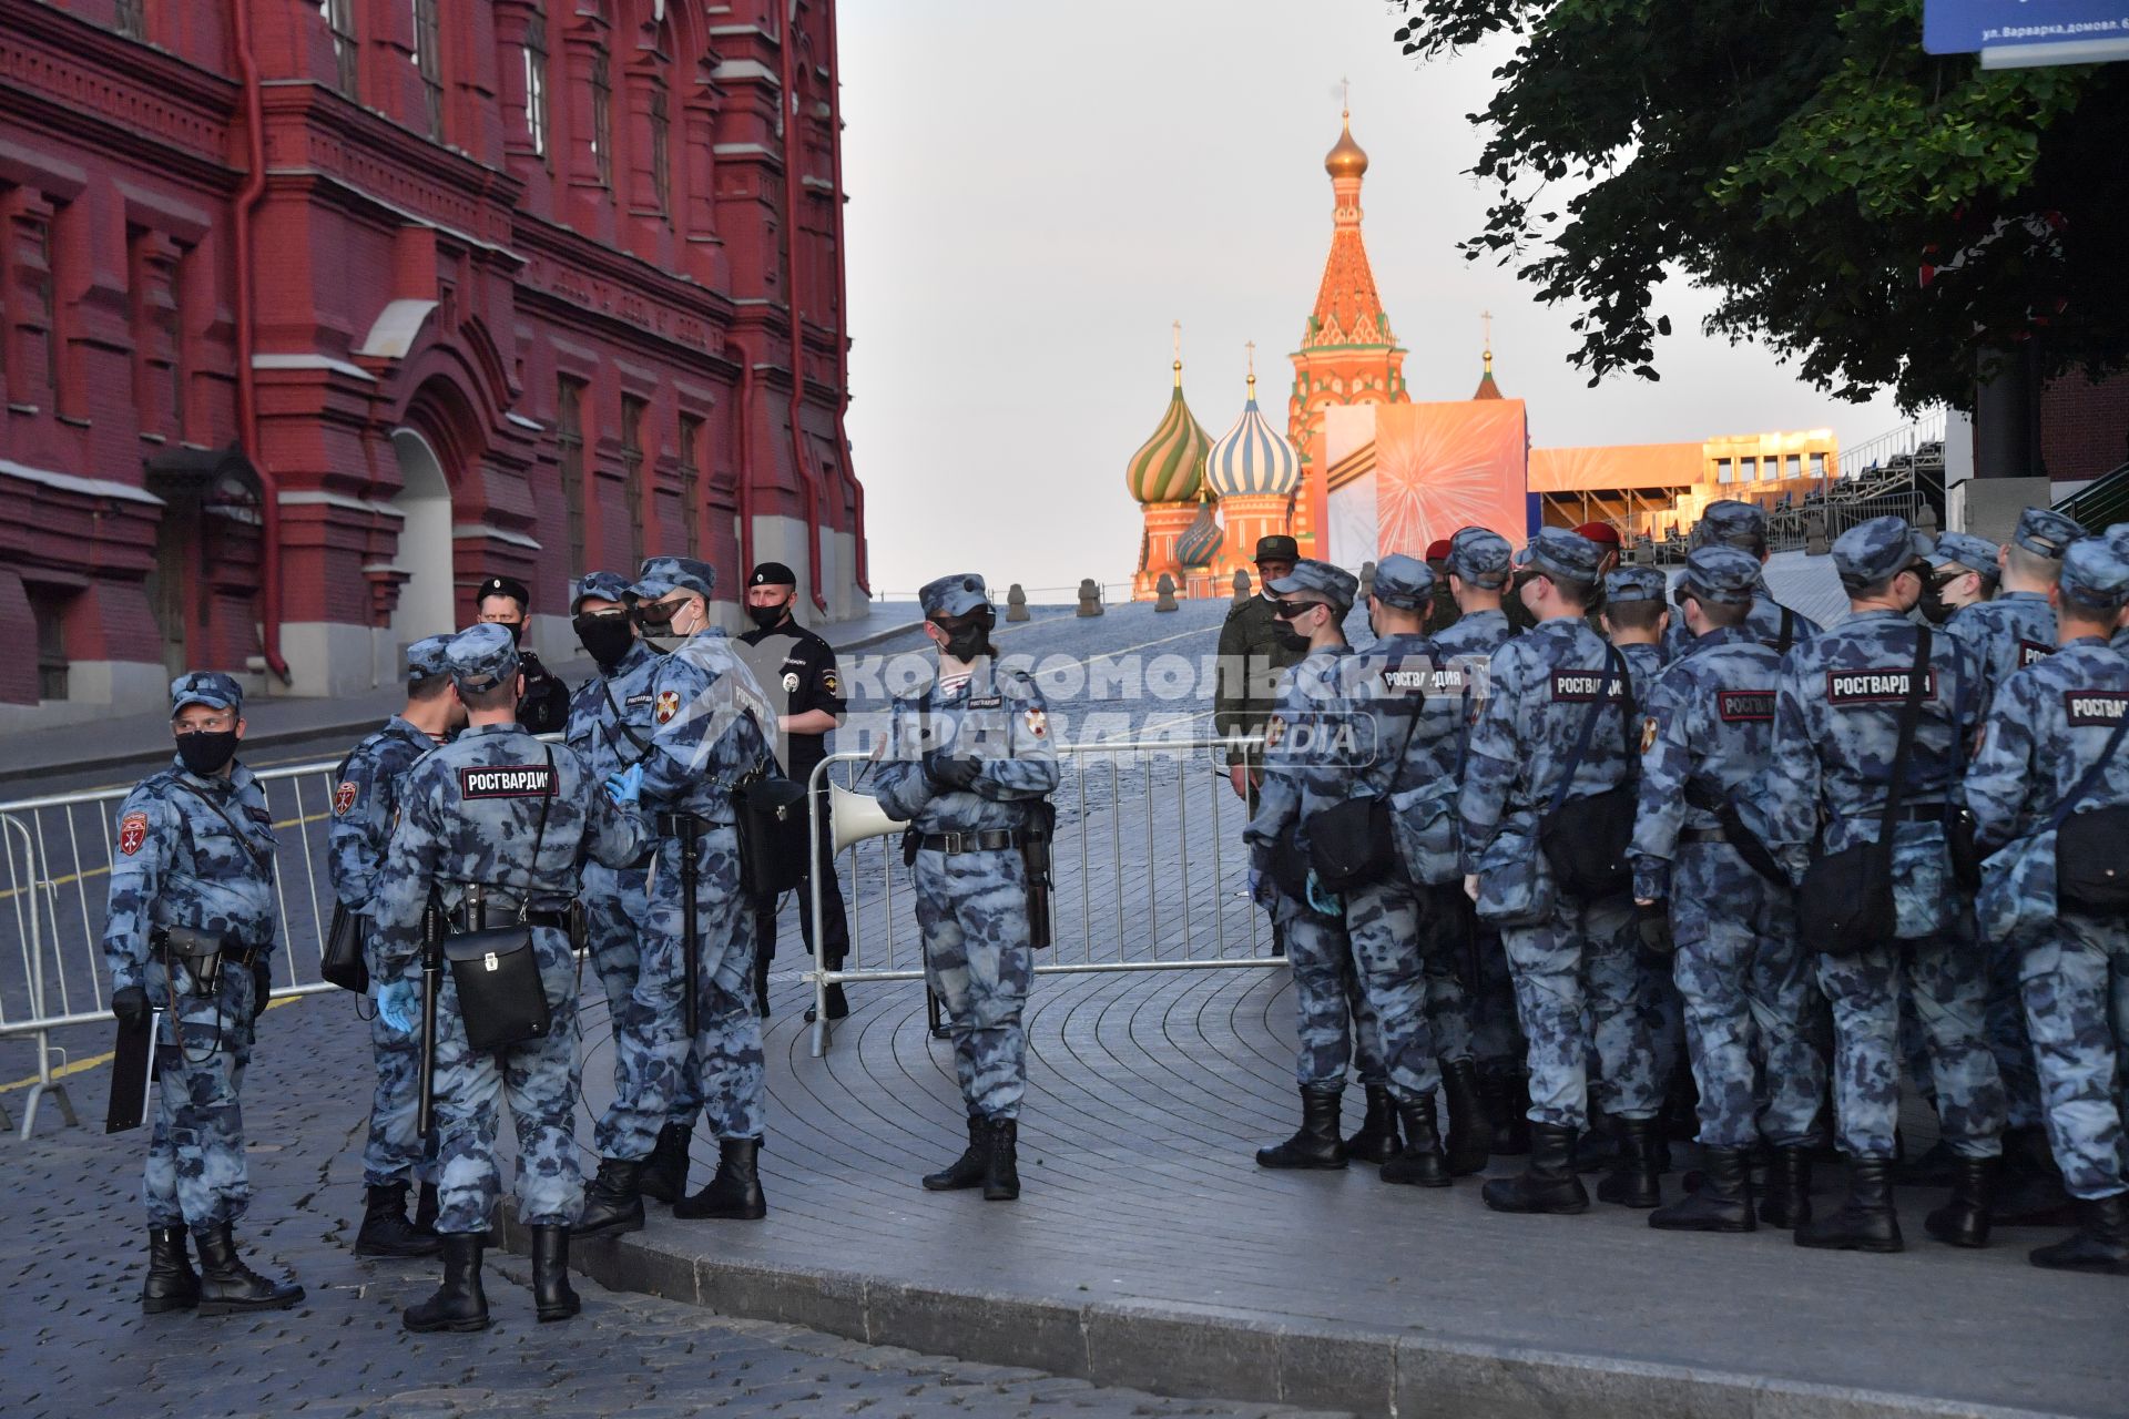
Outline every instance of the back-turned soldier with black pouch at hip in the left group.
{"label": "back-turned soldier with black pouch at hip in the left group", "polygon": [[407,1330],[485,1330],[481,1242],[502,1191],[496,1100],[517,1132],[517,1215],[532,1232],[539,1319],[577,1313],[568,1230],[577,1174],[577,964],[566,906],[585,855],[609,868],[641,855],[637,815],[611,802],[566,745],[517,725],[517,647],[500,625],[475,625],[445,651],[468,728],[409,770],[400,821],[377,872],[377,1011],[400,1028],[415,1015],[422,923],[434,900],[453,932],[524,921],[551,1023],[496,1053],[466,1040],[451,972],[436,1004],[436,1234],[443,1285],[405,1313]]}

